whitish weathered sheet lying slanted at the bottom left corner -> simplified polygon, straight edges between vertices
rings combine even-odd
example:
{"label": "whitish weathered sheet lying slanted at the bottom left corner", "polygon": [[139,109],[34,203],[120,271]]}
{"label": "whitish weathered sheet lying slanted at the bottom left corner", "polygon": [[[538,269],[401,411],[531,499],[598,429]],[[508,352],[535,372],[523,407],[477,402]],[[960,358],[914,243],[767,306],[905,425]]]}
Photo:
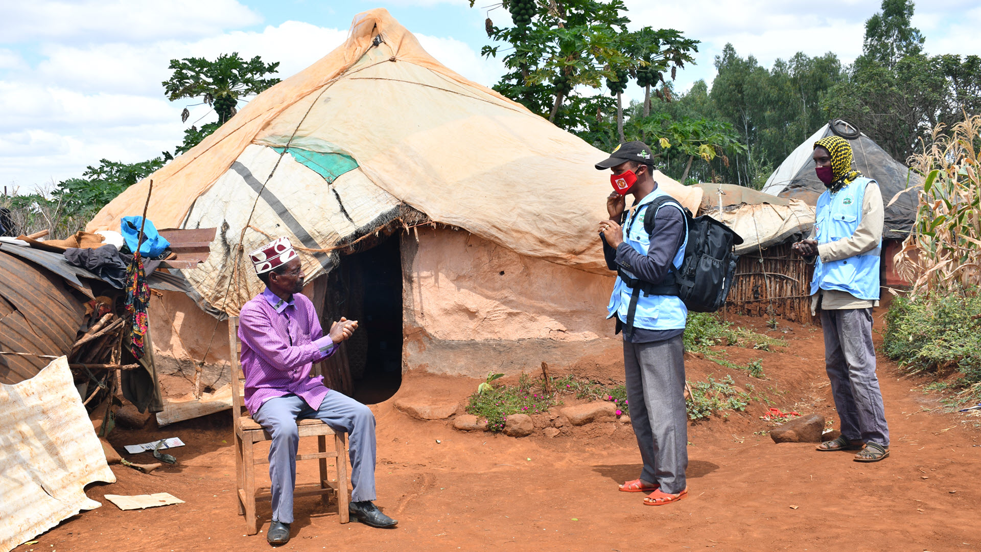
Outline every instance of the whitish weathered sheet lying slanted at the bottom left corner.
{"label": "whitish weathered sheet lying slanted at the bottom left corner", "polygon": [[53,360],[34,377],[0,385],[0,551],[101,506],[93,481],[115,482],[68,367]]}

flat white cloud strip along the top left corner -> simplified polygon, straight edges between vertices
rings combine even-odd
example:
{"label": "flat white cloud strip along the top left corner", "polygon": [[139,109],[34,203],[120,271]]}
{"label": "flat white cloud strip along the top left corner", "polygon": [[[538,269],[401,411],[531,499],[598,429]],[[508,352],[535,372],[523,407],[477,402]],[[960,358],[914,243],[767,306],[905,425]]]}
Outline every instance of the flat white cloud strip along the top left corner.
{"label": "flat white cloud strip along the top left corner", "polygon": [[0,42],[147,42],[207,36],[262,18],[236,0],[30,0],[0,4]]}

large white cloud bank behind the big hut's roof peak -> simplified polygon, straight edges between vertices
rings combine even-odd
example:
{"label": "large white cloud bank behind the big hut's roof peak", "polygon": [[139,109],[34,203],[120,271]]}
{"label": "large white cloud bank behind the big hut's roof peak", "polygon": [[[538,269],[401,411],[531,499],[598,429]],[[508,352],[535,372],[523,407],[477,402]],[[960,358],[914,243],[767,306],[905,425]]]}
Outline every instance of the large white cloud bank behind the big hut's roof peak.
{"label": "large white cloud bank behind the big hut's roof peak", "polygon": [[[466,43],[453,38],[417,35],[423,47],[444,65],[477,83],[496,83],[502,70]],[[31,69],[9,50],[0,50],[0,185],[34,185],[80,175],[100,158],[142,161],[173,150],[183,130],[214,121],[198,100],[170,102],[161,82],[170,77],[172,58],[205,57],[237,51],[281,62],[285,79],[327,55],[347,38],[346,29],[284,22],[262,30],[216,33],[181,41],[145,43],[51,43],[40,48],[44,59]],[[9,55],[7,54],[9,52]],[[11,62],[4,65],[5,60]],[[181,124],[181,109],[191,116]]]}

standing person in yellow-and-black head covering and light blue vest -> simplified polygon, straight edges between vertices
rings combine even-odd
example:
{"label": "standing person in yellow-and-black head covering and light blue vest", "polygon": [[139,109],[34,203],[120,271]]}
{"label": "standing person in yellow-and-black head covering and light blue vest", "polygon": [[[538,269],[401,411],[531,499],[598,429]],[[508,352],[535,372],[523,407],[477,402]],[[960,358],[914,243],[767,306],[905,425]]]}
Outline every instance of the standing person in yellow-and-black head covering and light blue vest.
{"label": "standing person in yellow-and-black head covering and light blue vest", "polygon": [[[854,451],[856,462],[889,456],[889,426],[875,375],[872,307],[879,304],[884,207],[874,180],[852,170],[852,146],[830,136],[814,143],[817,177],[828,188],[817,199],[812,239],[794,244],[816,257],[811,310],[821,310],[824,361],[842,435],[819,451]],[[863,446],[864,443],[864,446]]]}

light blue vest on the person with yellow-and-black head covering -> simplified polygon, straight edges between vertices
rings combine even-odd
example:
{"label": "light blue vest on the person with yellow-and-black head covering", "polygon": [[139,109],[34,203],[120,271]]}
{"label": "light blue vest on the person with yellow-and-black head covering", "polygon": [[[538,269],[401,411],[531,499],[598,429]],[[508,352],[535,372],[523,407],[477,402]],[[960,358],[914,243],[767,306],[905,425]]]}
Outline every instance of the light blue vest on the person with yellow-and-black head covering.
{"label": "light blue vest on the person with yellow-and-black head covering", "polygon": [[[825,191],[817,198],[814,225],[818,244],[830,244],[852,237],[861,222],[862,201],[869,183],[878,186],[874,180],[856,178],[838,192]],[[848,292],[866,301],[879,299],[881,251],[880,240],[878,247],[841,260],[822,262],[818,255],[810,281],[810,295],[821,289]]]}

